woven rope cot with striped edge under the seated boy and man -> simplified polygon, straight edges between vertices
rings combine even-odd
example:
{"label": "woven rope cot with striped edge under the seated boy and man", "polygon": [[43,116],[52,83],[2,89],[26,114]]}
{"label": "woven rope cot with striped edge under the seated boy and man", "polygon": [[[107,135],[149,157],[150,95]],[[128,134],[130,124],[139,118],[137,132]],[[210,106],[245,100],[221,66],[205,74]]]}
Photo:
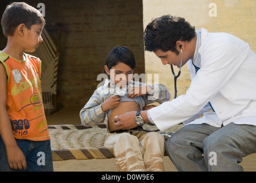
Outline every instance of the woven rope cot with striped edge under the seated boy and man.
{"label": "woven rope cot with striped edge under the seated boy and man", "polygon": [[[164,132],[176,132],[182,126],[176,125]],[[156,127],[147,125],[147,128],[155,130]],[[113,148],[104,146],[107,136],[105,124],[94,128],[82,125],[50,125],[48,129],[53,161],[115,158]]]}

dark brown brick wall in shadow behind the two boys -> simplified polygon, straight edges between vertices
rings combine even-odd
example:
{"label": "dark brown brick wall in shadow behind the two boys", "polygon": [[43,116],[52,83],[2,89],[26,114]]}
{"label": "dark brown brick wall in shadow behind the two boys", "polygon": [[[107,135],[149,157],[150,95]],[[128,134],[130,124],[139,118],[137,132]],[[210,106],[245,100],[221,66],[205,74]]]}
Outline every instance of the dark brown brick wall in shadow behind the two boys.
{"label": "dark brown brick wall in shadow behind the two boys", "polygon": [[[128,46],[137,61],[135,73],[144,73],[142,0],[26,2],[34,7],[40,2],[45,4],[46,29],[54,23],[63,24],[57,86],[59,105],[83,106],[88,101],[101,82],[96,80],[97,75],[102,73],[105,57],[114,46]],[[1,14],[5,6],[1,6]],[[2,50],[6,43],[2,34],[0,41]]]}

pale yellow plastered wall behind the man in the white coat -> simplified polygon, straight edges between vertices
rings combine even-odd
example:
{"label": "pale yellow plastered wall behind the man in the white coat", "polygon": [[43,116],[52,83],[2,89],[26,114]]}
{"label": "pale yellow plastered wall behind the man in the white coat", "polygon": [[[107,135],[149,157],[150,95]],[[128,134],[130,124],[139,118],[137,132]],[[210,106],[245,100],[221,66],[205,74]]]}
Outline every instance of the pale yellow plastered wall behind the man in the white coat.
{"label": "pale yellow plastered wall behind the man in the white coat", "polygon": [[[226,32],[249,43],[256,52],[256,1],[254,0],[143,0],[143,27],[164,14],[178,15],[191,25],[208,32]],[[178,73],[178,68],[175,68]],[[154,53],[145,51],[145,73],[159,74],[159,82],[167,86],[174,98],[174,78],[170,65],[162,65]],[[157,80],[157,79],[156,79]],[[152,81],[154,82],[154,81]],[[178,96],[190,86],[187,65],[178,78]]]}

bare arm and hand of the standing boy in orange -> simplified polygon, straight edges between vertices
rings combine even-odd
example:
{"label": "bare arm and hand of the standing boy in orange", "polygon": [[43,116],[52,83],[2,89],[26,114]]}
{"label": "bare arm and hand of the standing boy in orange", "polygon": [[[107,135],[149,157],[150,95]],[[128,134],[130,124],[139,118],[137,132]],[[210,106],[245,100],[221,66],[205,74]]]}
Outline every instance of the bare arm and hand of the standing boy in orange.
{"label": "bare arm and hand of the standing boy in orange", "polygon": [[6,70],[0,62],[0,135],[5,143],[7,159],[11,169],[26,169],[26,158],[13,136],[10,118],[6,110]]}

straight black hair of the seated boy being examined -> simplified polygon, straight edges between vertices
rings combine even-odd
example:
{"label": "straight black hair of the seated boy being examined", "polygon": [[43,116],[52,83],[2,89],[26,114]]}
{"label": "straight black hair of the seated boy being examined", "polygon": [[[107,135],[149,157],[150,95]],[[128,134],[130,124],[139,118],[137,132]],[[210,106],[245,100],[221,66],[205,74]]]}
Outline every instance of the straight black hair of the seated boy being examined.
{"label": "straight black hair of the seated boy being examined", "polygon": [[110,70],[111,67],[117,65],[119,62],[125,63],[132,69],[136,67],[135,57],[127,46],[113,47],[107,55],[105,65]]}

